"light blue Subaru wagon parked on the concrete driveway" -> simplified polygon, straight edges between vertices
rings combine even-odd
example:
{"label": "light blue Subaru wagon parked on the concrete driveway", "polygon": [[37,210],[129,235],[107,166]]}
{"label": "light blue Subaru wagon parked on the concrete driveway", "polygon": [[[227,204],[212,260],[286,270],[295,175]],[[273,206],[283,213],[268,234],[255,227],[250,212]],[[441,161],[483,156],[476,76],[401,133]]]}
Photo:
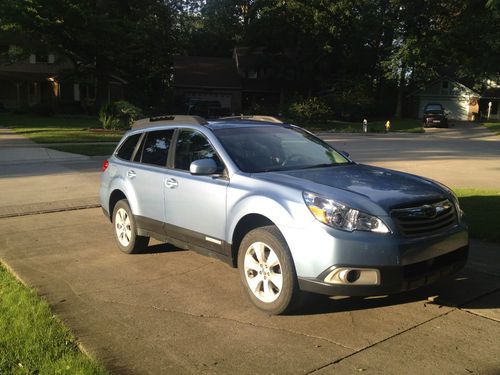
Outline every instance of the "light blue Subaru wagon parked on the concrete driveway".
{"label": "light blue Subaru wagon parked on the concrete driveway", "polygon": [[468,254],[450,189],[358,164],[277,122],[142,120],[104,162],[100,199],[120,250],[142,251],[154,237],[220,258],[271,314],[306,292],[418,288]]}

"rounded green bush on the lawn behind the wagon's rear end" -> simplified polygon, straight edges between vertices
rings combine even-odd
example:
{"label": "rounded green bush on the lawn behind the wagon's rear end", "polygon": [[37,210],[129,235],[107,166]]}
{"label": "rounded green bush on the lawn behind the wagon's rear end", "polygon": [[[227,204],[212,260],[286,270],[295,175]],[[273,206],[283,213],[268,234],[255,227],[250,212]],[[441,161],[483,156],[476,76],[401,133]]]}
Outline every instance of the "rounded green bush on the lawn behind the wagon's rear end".
{"label": "rounded green bush on the lawn behind the wagon's rear end", "polygon": [[104,129],[130,129],[141,116],[141,109],[125,100],[105,104],[99,111],[99,121]]}

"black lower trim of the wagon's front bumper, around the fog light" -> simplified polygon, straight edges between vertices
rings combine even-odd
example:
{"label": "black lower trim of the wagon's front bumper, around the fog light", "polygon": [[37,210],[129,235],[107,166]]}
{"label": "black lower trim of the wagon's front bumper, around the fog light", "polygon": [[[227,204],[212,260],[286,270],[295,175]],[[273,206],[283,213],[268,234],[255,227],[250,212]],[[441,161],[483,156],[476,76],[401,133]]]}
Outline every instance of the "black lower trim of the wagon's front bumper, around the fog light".
{"label": "black lower trim of the wagon's front bumper, around the fog light", "polygon": [[[414,264],[376,267],[380,272],[379,285],[332,285],[324,282],[323,280],[331,270],[337,267],[334,266],[325,270],[317,278],[299,277],[299,287],[304,291],[332,296],[376,296],[400,293],[432,284],[458,272],[465,266],[468,253],[469,247],[464,246]],[[349,267],[358,268],[353,265]]]}

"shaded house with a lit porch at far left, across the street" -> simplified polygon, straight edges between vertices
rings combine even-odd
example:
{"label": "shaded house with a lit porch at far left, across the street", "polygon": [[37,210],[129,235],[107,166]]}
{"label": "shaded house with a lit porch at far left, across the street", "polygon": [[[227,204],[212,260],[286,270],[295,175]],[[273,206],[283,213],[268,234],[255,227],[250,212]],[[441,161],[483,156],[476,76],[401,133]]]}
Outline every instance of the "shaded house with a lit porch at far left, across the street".
{"label": "shaded house with a lit porch at far left, across the street", "polygon": [[[3,44],[0,50],[12,46]],[[0,108],[44,107],[58,112],[82,112],[95,102],[96,85],[91,74],[76,78],[74,65],[55,53],[32,53],[9,61],[0,55]],[[123,99],[125,81],[111,77],[108,101]]]}

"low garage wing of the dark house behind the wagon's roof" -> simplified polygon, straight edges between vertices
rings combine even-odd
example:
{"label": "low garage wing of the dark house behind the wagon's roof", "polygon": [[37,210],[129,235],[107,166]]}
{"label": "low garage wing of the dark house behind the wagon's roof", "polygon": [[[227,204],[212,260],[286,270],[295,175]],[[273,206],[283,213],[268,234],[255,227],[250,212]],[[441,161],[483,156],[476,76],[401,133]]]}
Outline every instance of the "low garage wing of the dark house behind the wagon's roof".
{"label": "low garage wing of the dark house behind the wagon's roof", "polygon": [[188,114],[241,113],[242,83],[231,58],[174,56],[174,94]]}

